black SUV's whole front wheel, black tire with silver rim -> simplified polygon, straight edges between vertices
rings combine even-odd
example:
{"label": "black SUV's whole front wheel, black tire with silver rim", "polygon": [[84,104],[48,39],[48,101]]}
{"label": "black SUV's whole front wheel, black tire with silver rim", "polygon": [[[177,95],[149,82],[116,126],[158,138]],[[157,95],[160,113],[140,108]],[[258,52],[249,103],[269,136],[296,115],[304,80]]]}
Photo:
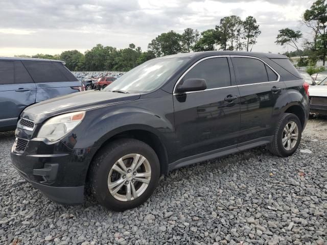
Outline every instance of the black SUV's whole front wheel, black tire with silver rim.
{"label": "black SUV's whole front wheel, black tire with silver rim", "polygon": [[[140,155],[139,158],[136,157],[136,154]],[[145,157],[145,160],[142,157]],[[120,165],[120,159],[123,159],[126,171]],[[142,160],[144,160],[142,165],[135,168],[137,170],[128,172],[133,168],[133,162],[139,163]],[[117,166],[120,168],[119,171],[116,171]],[[122,174],[121,170],[125,174]],[[140,175],[149,175],[149,172],[150,177],[139,177]],[[143,204],[155,190],[159,177],[159,159],[148,144],[136,139],[119,139],[101,149],[92,161],[89,175],[90,191],[102,206],[114,211],[124,211]],[[142,179],[142,182],[136,179]],[[112,187],[117,183],[120,184],[109,190],[109,186]],[[120,189],[114,193],[115,188]],[[130,194],[128,195],[128,193]]]}

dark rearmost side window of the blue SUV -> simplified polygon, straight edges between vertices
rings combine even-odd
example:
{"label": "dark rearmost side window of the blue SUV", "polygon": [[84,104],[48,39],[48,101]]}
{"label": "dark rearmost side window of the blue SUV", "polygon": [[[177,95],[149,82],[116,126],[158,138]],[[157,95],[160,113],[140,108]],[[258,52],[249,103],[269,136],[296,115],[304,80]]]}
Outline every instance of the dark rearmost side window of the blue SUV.
{"label": "dark rearmost side window of the blue SUV", "polygon": [[22,61],[36,83],[68,82],[63,72],[52,61]]}

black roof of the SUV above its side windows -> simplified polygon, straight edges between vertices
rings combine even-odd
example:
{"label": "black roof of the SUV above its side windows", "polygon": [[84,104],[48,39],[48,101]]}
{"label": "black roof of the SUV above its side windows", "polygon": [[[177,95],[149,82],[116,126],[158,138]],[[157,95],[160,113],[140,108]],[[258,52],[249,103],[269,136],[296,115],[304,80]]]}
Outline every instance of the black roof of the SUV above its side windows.
{"label": "black roof of the SUV above its side windows", "polygon": [[285,55],[270,54],[270,53],[255,53],[255,52],[239,52],[239,51],[205,51],[194,53],[179,53],[176,55],[167,55],[160,57],[159,59],[170,58],[195,58],[198,56],[214,56],[214,55],[240,55],[240,56],[252,56],[252,57],[267,57],[270,59],[288,59]]}

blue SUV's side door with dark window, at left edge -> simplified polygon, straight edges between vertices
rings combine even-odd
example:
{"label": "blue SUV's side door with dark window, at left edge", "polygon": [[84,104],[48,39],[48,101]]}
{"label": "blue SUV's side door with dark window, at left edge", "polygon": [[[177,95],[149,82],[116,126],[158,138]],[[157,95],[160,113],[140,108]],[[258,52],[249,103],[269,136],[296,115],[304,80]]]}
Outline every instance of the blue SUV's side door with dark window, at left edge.
{"label": "blue SUV's side door with dark window, at left edge", "polygon": [[35,88],[21,61],[0,61],[0,128],[17,124],[20,113],[35,103]]}

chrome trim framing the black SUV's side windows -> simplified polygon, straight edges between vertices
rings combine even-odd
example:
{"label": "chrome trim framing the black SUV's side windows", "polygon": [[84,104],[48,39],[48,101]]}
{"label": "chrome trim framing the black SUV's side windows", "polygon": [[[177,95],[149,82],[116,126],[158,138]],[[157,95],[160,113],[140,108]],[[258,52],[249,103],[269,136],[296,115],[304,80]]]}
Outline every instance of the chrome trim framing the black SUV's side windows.
{"label": "chrome trim framing the black SUV's side windows", "polygon": [[232,85],[232,86],[227,86],[227,87],[220,87],[220,88],[209,88],[209,89],[205,89],[205,90],[201,90],[201,91],[191,91],[191,92],[185,92],[185,93],[197,93],[197,92],[203,92],[203,91],[209,91],[209,90],[216,90],[216,89],[224,89],[224,88],[233,88],[233,87],[238,87],[238,86],[249,86],[249,85],[255,85],[255,84],[265,84],[265,83],[276,83],[279,82],[281,80],[281,76],[278,74],[277,71],[275,71],[270,65],[268,65],[265,61],[263,61],[262,59],[258,58],[258,57],[253,57],[253,56],[246,56],[246,55],[215,55],[215,56],[208,56],[208,57],[204,57],[200,60],[198,60],[197,62],[195,62],[189,69],[187,69],[182,76],[180,76],[180,78],[177,80],[175,86],[174,86],[174,90],[173,90],[173,95],[176,94],[180,94],[180,93],[175,93],[176,87],[179,84],[179,82],[183,79],[183,77],[188,74],[188,72],[197,64],[199,64],[200,62],[207,60],[207,59],[213,59],[213,58],[232,58],[232,57],[240,57],[240,58],[250,58],[250,59],[256,59],[256,60],[260,60],[261,62],[263,62],[265,65],[267,65],[273,72],[275,72],[275,74],[277,75],[277,80],[276,81],[270,81],[270,82],[262,82],[262,83],[250,83],[250,84],[241,84],[241,85]]}

